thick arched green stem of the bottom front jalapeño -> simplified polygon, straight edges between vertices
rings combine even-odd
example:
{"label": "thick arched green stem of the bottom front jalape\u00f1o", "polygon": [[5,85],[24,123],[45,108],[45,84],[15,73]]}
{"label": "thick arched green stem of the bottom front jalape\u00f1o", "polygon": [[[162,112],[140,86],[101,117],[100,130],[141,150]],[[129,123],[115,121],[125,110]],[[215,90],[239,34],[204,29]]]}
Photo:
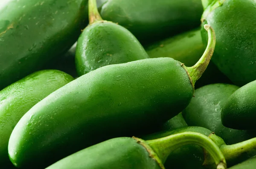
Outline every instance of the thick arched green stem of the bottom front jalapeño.
{"label": "thick arched green stem of the bottom front jalape\u00f1o", "polygon": [[226,169],[227,166],[224,155],[219,147],[210,138],[198,132],[182,132],[146,142],[163,163],[175,149],[187,144],[196,144],[202,146],[212,156],[217,169]]}

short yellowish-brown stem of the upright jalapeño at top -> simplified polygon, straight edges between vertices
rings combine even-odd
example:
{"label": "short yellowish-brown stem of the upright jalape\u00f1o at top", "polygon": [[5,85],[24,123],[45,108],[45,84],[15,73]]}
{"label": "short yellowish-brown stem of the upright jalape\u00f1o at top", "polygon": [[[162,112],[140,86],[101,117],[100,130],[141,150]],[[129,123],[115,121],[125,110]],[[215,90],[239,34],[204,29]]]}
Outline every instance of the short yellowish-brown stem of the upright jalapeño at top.
{"label": "short yellowish-brown stem of the upright jalape\u00f1o at top", "polygon": [[89,24],[92,24],[96,21],[101,21],[102,17],[99,14],[96,0],[89,0],[88,6],[89,6]]}

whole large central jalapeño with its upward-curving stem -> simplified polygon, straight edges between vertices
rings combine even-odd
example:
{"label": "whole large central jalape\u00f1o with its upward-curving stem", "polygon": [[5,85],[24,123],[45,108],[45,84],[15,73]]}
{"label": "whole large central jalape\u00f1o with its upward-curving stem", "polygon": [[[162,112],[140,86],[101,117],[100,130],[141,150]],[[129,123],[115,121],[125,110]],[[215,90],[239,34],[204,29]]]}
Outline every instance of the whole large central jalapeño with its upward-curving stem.
{"label": "whole large central jalape\u00f1o with its upward-curving stem", "polygon": [[12,163],[44,167],[109,138],[145,133],[180,113],[214,51],[215,33],[205,28],[209,43],[192,67],[169,57],[107,65],[51,93],[13,130]]}

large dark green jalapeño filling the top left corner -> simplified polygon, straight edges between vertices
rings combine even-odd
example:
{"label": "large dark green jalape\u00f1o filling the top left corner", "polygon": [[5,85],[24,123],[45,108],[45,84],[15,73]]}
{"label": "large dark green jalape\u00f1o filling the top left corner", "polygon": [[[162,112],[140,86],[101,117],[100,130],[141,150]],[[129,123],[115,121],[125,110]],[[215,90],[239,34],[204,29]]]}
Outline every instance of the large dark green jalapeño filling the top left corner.
{"label": "large dark green jalape\u00f1o filling the top left corner", "polygon": [[2,3],[0,90],[58,59],[88,23],[87,0]]}

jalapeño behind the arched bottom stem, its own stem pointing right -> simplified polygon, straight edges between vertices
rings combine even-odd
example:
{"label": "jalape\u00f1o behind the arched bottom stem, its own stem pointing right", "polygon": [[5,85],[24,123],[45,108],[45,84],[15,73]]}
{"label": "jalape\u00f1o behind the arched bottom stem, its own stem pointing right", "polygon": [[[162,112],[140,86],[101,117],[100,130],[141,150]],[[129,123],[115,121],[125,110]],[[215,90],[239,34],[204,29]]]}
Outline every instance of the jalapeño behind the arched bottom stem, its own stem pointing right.
{"label": "jalape\u00f1o behind the arched bottom stem, its own stem pointing right", "polygon": [[[141,136],[140,138],[148,141],[183,132],[197,132],[208,136],[221,149],[228,167],[256,155],[256,138],[251,138],[250,140],[237,144],[226,145],[222,138],[204,127],[180,127]],[[186,161],[186,163],[184,161]],[[215,169],[215,164],[208,153],[204,151],[202,147],[192,144],[174,149],[169,153],[164,166],[166,169]]]}

